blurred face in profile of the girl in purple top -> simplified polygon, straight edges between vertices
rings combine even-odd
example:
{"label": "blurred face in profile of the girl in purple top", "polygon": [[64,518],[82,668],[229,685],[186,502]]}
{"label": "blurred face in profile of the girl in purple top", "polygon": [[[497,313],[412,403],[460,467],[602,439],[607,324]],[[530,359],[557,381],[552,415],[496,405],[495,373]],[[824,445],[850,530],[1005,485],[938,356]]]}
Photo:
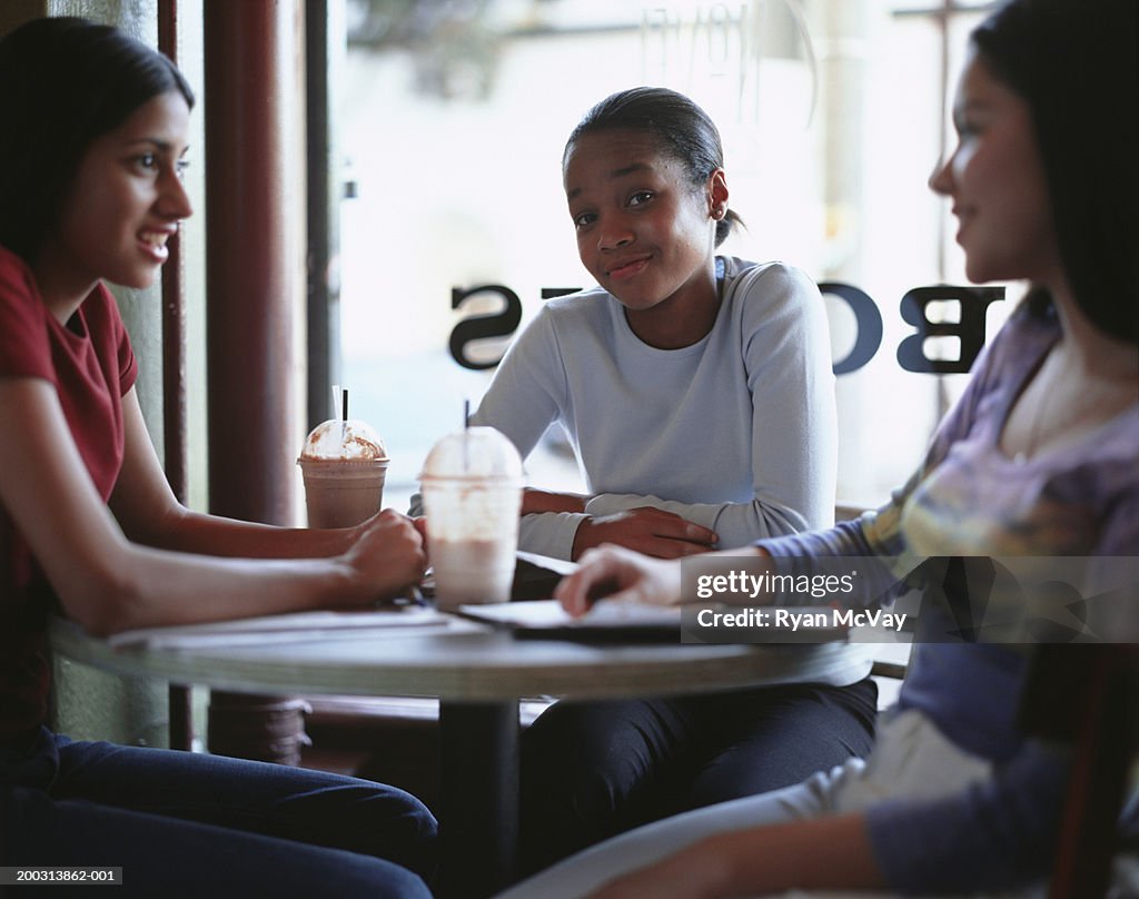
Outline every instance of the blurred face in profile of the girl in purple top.
{"label": "blurred face in profile of the girl in purple top", "polygon": [[1025,101],[972,56],[953,106],[958,145],[929,179],[953,202],[973,281],[1055,281],[1059,251],[1043,164]]}

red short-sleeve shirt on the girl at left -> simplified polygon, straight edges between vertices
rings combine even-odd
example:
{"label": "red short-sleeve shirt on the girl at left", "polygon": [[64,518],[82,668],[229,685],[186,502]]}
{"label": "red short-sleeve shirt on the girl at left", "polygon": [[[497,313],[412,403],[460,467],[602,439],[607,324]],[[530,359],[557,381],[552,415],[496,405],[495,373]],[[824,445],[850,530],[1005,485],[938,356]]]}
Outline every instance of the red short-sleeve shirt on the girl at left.
{"label": "red short-sleeve shirt on the girl at left", "polygon": [[[36,377],[55,386],[104,499],[122,467],[122,398],[137,374],[126,328],[104,285],[60,325],[40,299],[27,265],[0,246],[0,378]],[[0,738],[44,720],[50,683],[46,624],[56,607],[19,528],[0,506]]]}

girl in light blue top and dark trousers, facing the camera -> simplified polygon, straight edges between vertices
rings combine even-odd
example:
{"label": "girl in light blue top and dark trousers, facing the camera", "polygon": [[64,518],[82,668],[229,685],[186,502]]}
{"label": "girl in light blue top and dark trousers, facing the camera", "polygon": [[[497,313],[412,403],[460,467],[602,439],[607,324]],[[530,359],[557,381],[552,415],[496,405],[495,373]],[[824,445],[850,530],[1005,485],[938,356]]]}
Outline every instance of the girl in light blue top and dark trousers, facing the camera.
{"label": "girl in light blue top and dark trousers, facing the camera", "polygon": [[[735,215],[720,136],[687,97],[615,93],[571,133],[570,219],[593,289],[543,307],[474,422],[526,453],[560,423],[588,497],[527,491],[522,546],[675,557],[827,525],[835,399],[822,297],[716,255]],[[868,751],[877,690],[847,649],[826,684],[559,702],[522,742],[523,867]]]}

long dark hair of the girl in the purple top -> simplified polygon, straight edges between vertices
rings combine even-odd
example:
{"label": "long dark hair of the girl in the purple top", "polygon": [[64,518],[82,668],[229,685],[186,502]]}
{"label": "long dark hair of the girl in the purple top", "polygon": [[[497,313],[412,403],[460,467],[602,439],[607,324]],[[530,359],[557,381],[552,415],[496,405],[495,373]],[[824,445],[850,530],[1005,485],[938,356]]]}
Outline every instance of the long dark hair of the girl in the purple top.
{"label": "long dark hair of the girl in the purple top", "polygon": [[[1136,0],[1011,0],[973,32],[1029,105],[1060,262],[1084,314],[1139,343]],[[1040,311],[1047,295],[1031,299]]]}

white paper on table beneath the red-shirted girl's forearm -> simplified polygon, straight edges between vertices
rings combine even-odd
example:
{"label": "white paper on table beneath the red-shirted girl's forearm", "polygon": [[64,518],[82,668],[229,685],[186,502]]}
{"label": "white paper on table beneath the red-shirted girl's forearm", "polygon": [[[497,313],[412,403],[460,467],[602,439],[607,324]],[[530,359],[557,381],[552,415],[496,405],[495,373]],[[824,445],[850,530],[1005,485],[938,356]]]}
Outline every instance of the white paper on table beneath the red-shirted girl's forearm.
{"label": "white paper on table beneath the red-shirted girl's forearm", "polygon": [[235,621],[211,621],[167,628],[126,630],[107,638],[114,649],[141,646],[148,649],[197,649],[251,646],[270,643],[297,643],[352,639],[364,634],[399,631],[409,628],[439,629],[454,620],[434,608],[407,607],[374,612],[297,612]]}

